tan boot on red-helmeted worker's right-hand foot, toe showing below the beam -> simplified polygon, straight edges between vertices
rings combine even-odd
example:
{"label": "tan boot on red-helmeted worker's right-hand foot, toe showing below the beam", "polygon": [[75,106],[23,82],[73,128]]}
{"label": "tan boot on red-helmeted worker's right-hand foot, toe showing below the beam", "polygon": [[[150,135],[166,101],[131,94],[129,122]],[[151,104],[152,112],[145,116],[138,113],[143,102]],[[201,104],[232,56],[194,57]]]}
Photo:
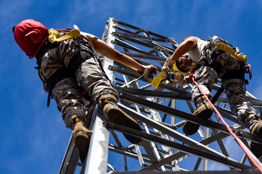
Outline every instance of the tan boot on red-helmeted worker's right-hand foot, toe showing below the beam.
{"label": "tan boot on red-helmeted worker's right-hand foot, toe showing below the beam", "polygon": [[[109,99],[109,101],[108,101]],[[120,124],[123,126],[130,127],[132,129],[140,130],[142,131],[140,125],[135,121],[133,118],[131,118],[129,115],[127,115],[122,109],[118,108],[112,103],[112,100],[114,100],[115,97],[112,95],[103,95],[99,99],[99,106],[103,108],[103,112],[105,113],[105,116],[108,121],[111,121],[115,124]],[[110,101],[111,100],[111,101]],[[116,99],[114,100],[116,101]],[[133,143],[138,144],[141,142],[141,138],[133,137],[131,135],[123,134],[125,138]]]}

